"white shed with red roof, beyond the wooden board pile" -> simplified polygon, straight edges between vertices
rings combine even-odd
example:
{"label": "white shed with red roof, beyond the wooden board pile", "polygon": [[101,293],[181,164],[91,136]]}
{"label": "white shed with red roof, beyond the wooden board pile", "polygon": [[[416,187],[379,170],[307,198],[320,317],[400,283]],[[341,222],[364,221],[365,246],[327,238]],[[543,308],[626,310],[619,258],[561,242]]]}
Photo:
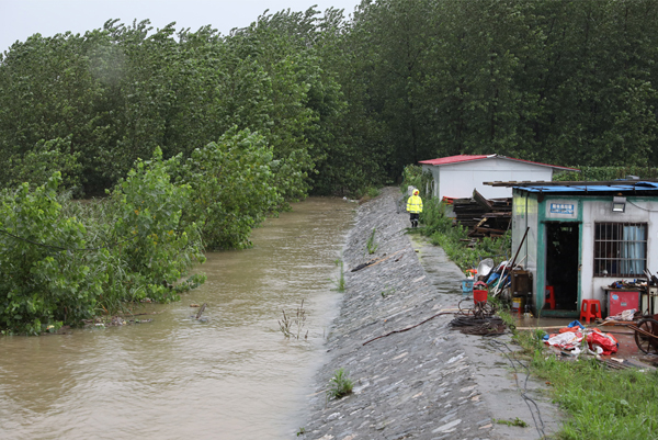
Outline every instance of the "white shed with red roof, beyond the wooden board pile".
{"label": "white shed with red roof, beyond the wooden board pile", "polygon": [[431,171],[434,187],[432,195],[443,199],[464,199],[477,190],[486,199],[511,198],[512,190],[506,187],[487,187],[487,181],[552,181],[556,171],[578,171],[575,168],[557,167],[500,155],[458,155],[439,159],[421,160],[422,170]]}

